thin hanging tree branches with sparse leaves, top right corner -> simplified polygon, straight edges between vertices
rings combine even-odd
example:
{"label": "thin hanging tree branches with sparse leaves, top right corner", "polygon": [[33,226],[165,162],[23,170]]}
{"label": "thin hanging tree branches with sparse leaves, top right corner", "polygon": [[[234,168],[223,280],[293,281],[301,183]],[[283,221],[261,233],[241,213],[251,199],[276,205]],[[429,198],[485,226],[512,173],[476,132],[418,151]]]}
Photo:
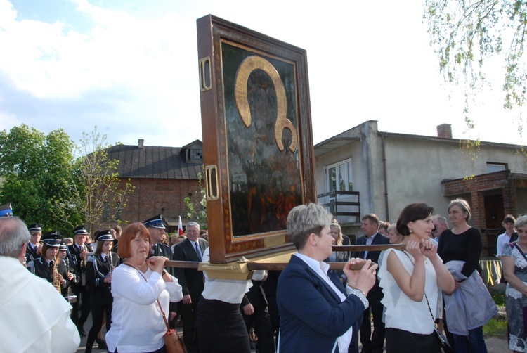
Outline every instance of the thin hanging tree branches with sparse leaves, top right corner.
{"label": "thin hanging tree branches with sparse leaves, top right corner", "polygon": [[489,74],[496,71],[494,58],[503,60],[504,107],[523,106],[527,89],[526,1],[425,0],[424,18],[445,80],[464,86],[467,127],[474,127],[469,114],[472,98],[484,84],[491,84]]}

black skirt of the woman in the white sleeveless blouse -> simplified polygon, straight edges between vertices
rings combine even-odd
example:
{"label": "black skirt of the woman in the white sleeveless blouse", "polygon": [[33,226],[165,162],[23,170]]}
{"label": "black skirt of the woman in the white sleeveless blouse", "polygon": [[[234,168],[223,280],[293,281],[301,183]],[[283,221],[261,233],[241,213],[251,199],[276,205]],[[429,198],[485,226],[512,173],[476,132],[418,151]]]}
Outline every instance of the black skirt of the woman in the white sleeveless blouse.
{"label": "black skirt of the woman in the white sleeveless blouse", "polygon": [[386,328],[386,353],[401,352],[441,353],[441,347],[435,332],[419,335],[398,328]]}

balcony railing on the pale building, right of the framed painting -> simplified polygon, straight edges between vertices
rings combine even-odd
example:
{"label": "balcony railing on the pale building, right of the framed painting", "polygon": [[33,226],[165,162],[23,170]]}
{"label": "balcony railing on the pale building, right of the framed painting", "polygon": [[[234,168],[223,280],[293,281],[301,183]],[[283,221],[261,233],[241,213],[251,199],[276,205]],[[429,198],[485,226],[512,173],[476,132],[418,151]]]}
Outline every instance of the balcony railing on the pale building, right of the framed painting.
{"label": "balcony railing on the pale building, right of the framed painting", "polygon": [[360,202],[358,191],[331,191],[317,195],[318,203],[337,217],[339,223],[360,222]]}

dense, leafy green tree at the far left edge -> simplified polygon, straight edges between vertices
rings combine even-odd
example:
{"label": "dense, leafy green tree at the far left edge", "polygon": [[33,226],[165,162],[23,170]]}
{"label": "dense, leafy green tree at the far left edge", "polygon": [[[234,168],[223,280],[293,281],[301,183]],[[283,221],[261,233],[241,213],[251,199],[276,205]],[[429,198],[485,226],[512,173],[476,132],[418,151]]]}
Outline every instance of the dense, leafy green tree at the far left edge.
{"label": "dense, leafy green tree at the far left edge", "polygon": [[[0,204],[13,203],[15,215],[27,223],[39,222],[46,231],[71,229],[53,217],[53,200],[68,193],[72,172],[74,143],[57,129],[48,135],[25,124],[0,132]],[[72,221],[80,219],[65,212]]]}

